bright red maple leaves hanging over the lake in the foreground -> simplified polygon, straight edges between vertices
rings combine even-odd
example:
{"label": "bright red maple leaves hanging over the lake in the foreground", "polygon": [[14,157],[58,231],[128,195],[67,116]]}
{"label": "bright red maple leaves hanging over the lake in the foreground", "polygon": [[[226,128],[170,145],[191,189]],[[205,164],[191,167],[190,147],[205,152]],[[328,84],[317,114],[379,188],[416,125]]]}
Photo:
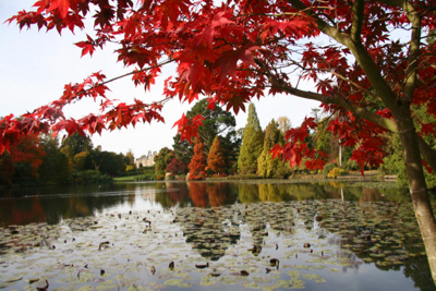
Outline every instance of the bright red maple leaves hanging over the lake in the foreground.
{"label": "bright red maple leaves hanging over the lake in the foreground", "polygon": [[[413,5],[414,1],[411,3]],[[61,34],[65,28],[71,32],[76,27],[84,28],[85,17],[92,14],[96,35],[86,35],[85,40],[75,44],[82,49],[82,57],[93,56],[98,49],[104,49],[108,41],[118,39],[118,60],[132,68],[124,76],[132,76],[135,86],[149,89],[160,75],[161,66],[170,62],[177,64],[177,73],[165,82],[166,97],[150,104],[135,100],[128,105],[109,100],[106,97],[108,84],[118,77],[108,80],[101,72],[85,77],[82,83],[66,84],[58,100],[24,114],[22,119],[14,119],[11,114],[0,121],[0,153],[9,149],[19,136],[26,133],[38,134],[52,130],[66,131],[69,134],[100,134],[104,130],[113,131],[137,122],[164,122],[160,111],[168,100],[175,97],[192,102],[199,96],[206,96],[210,108],[225,106],[227,110],[238,113],[239,110],[245,110],[246,104],[254,97],[264,97],[266,93],[284,93],[319,100],[324,110],[347,116],[346,119],[332,119],[329,129],[339,134],[346,146],[360,144],[352,157],[360,165],[377,166],[384,156],[379,133],[386,131],[386,120],[393,116],[389,108],[376,113],[368,110],[372,107],[379,108],[376,101],[379,97],[373,90],[372,76],[361,65],[349,61],[349,56],[353,53],[350,46],[317,46],[315,43],[299,41],[322,33],[328,35],[329,32],[320,24],[328,25],[327,20],[338,20],[336,29],[347,32],[343,38],[359,37],[385,81],[392,84],[392,94],[401,95],[402,85],[395,84],[400,84],[407,75],[405,45],[391,40],[386,32],[401,29],[411,20],[397,13],[392,7],[365,3],[360,7],[362,14],[359,14],[364,25],[352,34],[355,10],[337,1],[330,5],[335,9],[328,9],[323,1],[306,3],[299,0],[274,3],[235,1],[234,5],[223,3],[217,7],[211,1],[189,0],[141,1],[137,5],[131,0],[119,0],[111,4],[106,0],[36,1],[35,11],[23,10],[7,22],[16,22],[20,28],[35,25],[38,29],[56,28]],[[431,3],[427,5],[431,7]],[[431,10],[426,10],[421,2],[414,9],[423,13],[423,29],[433,28],[434,15],[428,13]],[[301,56],[292,54],[289,46],[302,48]],[[412,99],[414,104],[425,106],[433,116],[436,114],[436,90],[433,89],[436,69],[429,64],[435,61],[435,54],[432,53],[434,49],[434,44],[421,46],[423,65],[416,71],[420,83],[415,85]],[[300,77],[315,82],[316,90],[303,92],[293,87],[287,66],[282,65],[284,60],[288,60],[288,69],[294,66]],[[276,69],[279,64],[283,69]],[[90,112],[80,119],[64,117],[65,106],[89,97],[100,102],[101,112]],[[371,124],[361,118],[362,110],[367,110],[364,118],[371,120]],[[191,142],[202,125],[202,119],[187,119],[183,114],[174,123],[181,138]],[[282,153],[282,158],[289,160],[291,167],[300,165],[304,157],[307,168],[319,169],[324,166],[323,154],[305,147],[301,138],[307,126],[311,128],[304,123],[301,129],[294,129],[288,135],[290,144],[276,147],[274,153]],[[422,134],[435,134],[432,123],[422,122],[421,128]],[[372,131],[373,134],[365,134],[365,131]],[[362,154],[367,151],[372,154]]]}

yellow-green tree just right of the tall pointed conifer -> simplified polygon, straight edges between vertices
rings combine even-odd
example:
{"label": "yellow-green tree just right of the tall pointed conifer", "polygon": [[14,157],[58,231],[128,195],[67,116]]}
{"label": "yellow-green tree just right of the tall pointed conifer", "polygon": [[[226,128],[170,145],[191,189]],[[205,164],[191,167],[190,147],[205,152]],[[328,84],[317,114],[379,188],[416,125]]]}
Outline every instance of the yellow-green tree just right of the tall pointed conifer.
{"label": "yellow-green tree just right of the tall pointed conifer", "polygon": [[286,166],[281,160],[272,159],[272,154],[269,153],[274,145],[279,143],[283,143],[281,133],[278,123],[272,119],[265,130],[264,149],[257,158],[257,175],[262,178],[283,178],[281,175],[286,175]]}

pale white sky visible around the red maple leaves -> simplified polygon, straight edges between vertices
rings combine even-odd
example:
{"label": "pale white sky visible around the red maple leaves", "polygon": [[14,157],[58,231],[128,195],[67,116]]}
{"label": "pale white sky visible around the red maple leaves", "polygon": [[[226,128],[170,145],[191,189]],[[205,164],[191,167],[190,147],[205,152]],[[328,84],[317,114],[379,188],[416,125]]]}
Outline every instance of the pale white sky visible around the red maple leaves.
{"label": "pale white sky visible around the red maple leaves", "polygon": [[[63,86],[69,83],[82,82],[92,73],[101,71],[108,78],[130,72],[117,62],[113,48],[106,47],[97,50],[90,58],[88,54],[81,58],[82,49],[74,43],[86,39],[86,33],[93,36],[92,31],[75,29],[73,35],[64,29],[62,36],[56,29],[38,32],[37,27],[20,31],[16,23],[8,24],[5,20],[26,10],[32,11],[36,0],[0,0],[0,117],[13,113],[19,117],[34,109],[58,99],[63,93]],[[88,22],[92,24],[92,20]],[[89,25],[89,27],[92,27]],[[175,66],[168,66],[162,71],[162,77],[157,80],[150,92],[135,88],[131,78],[109,84],[109,99],[131,102],[133,98],[144,102],[162,98],[164,80],[174,73]],[[311,89],[311,85],[303,84],[301,89]],[[311,114],[318,102],[302,98],[276,95],[255,99],[254,105],[263,129],[279,117],[288,117],[293,126],[299,125],[306,116]],[[136,158],[146,155],[149,150],[158,151],[162,147],[171,148],[177,128],[172,128],[182,113],[190,110],[193,104],[181,104],[179,100],[167,102],[161,114],[165,123],[152,122],[130,125],[128,129],[105,131],[101,135],[95,134],[90,138],[94,146],[100,145],[102,150],[126,154],[132,150]],[[246,107],[247,109],[247,107]],[[92,100],[81,100],[64,109],[66,117],[80,119],[89,112],[98,113],[98,106]],[[246,112],[235,116],[237,129],[246,124]],[[61,134],[62,137],[62,134]]]}

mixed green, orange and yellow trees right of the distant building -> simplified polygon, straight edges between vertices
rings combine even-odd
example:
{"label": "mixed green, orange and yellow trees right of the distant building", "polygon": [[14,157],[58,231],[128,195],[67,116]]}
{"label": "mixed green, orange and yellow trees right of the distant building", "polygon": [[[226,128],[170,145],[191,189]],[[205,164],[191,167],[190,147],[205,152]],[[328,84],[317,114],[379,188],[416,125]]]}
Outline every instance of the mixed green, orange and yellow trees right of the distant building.
{"label": "mixed green, orange and yellow trees right of the distant building", "polygon": [[[210,111],[207,106],[207,101],[202,100],[187,112],[190,118],[195,114],[206,118],[193,144],[181,142],[180,135],[177,135],[173,149],[166,147],[158,153],[155,158],[155,174],[158,179],[164,179],[166,172],[183,179],[187,174],[190,180],[226,175],[238,179],[287,179],[299,172],[314,173],[303,166],[304,160],[301,167],[291,170],[287,162],[272,159],[272,155],[269,154],[275,144],[284,143],[286,132],[292,126],[288,117],[272,119],[265,129],[262,129],[255,106],[251,104],[245,128],[235,130],[235,120],[229,112],[220,108]],[[422,121],[428,121],[431,118],[422,108],[413,108],[413,111]],[[318,126],[310,132],[307,146],[326,154],[326,166],[323,171],[315,173],[336,178],[349,171],[359,171],[358,162],[350,159],[354,148],[341,145],[343,141],[339,141],[338,136],[328,131],[328,123],[337,117],[322,114],[319,109],[313,109],[310,117],[315,119]],[[424,138],[436,148],[433,135],[428,134]],[[386,134],[385,140],[384,163],[379,168],[365,166],[365,170],[379,170],[386,174],[397,175],[398,182],[407,185],[400,141],[395,134]],[[429,186],[436,185],[434,175],[428,174],[427,182]]]}

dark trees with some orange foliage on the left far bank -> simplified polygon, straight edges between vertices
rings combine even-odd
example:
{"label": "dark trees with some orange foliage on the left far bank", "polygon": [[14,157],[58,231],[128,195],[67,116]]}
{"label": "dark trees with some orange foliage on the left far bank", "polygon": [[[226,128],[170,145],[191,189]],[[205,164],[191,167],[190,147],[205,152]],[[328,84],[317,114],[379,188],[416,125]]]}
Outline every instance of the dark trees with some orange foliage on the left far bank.
{"label": "dark trees with some orange foliage on the left far bank", "polygon": [[0,156],[0,184],[104,183],[132,169],[131,151],[123,155],[102,150],[80,134],[61,143],[51,135],[31,134]]}

